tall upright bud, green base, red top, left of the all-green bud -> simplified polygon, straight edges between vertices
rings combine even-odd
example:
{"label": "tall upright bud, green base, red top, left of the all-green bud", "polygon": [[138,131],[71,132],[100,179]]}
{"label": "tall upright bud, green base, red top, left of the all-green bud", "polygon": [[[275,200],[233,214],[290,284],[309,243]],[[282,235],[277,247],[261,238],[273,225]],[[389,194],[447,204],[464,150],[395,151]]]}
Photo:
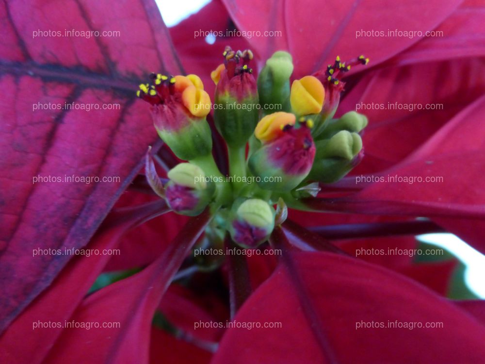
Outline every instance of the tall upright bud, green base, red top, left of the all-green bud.
{"label": "tall upright bud, green base, red top, left of the all-green bud", "polygon": [[226,47],[224,64],[211,73],[216,83],[214,123],[231,148],[245,145],[258,123],[259,98],[249,62],[251,50],[237,52]]}

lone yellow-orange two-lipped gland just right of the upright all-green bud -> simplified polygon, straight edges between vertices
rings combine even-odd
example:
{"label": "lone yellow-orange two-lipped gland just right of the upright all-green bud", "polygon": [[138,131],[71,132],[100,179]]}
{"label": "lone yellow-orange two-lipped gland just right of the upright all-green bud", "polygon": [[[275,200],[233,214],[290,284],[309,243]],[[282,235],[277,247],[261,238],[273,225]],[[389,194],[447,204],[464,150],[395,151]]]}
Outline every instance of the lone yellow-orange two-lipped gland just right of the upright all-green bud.
{"label": "lone yellow-orange two-lipped gland just right of the upright all-green bud", "polygon": [[324,99],[325,89],[316,77],[305,76],[291,84],[291,108],[298,115],[320,113]]}

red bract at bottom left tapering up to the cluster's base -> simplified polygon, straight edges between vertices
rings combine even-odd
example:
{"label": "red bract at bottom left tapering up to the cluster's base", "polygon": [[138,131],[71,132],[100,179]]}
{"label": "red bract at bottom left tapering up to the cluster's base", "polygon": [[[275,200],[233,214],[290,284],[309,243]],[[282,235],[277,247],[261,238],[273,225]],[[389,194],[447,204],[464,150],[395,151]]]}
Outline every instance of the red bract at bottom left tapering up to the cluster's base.
{"label": "red bract at bottom left tapering up to the cluster's base", "polygon": [[71,321],[119,322],[119,327],[64,330],[45,363],[148,363],[153,314],[209,220],[208,211],[192,218],[155,262],[84,299]]}

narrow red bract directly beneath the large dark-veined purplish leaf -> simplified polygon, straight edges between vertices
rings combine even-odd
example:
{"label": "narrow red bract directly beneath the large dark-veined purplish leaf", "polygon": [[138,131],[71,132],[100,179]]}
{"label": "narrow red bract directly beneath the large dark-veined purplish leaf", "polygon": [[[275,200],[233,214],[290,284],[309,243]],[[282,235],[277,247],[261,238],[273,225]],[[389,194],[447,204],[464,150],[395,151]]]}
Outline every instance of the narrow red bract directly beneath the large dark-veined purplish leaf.
{"label": "narrow red bract directly beneath the large dark-veined purplish leaf", "polygon": [[[87,249],[103,252],[104,249],[116,248],[120,236],[127,230],[166,211],[164,201],[157,200],[113,212]],[[78,255],[70,260],[50,287],[18,315],[0,337],[0,362],[41,363],[62,329],[33,330],[33,324],[39,321],[64,323],[68,320],[109,259],[108,254],[92,254]],[[26,342],[28,345],[20,344]]]}

